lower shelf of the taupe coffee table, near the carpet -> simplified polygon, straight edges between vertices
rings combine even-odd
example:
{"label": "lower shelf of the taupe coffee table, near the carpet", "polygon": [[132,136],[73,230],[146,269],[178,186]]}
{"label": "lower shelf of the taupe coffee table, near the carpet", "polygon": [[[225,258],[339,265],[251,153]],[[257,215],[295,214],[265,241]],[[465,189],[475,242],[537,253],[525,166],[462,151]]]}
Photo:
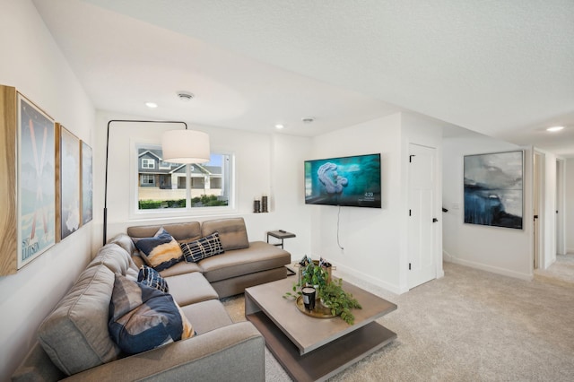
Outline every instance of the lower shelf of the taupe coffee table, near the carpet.
{"label": "lower shelf of the taupe coffee table, near the carpet", "polygon": [[315,351],[300,355],[297,346],[264,312],[258,311],[246,317],[263,334],[269,351],[296,381],[333,377],[396,338],[396,333],[373,321]]}

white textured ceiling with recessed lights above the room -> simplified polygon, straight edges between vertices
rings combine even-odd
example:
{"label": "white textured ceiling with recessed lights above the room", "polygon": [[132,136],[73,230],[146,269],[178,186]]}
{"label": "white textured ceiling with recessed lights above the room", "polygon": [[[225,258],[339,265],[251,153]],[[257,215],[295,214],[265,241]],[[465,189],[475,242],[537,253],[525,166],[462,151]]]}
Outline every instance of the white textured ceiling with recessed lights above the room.
{"label": "white textured ceiling with recessed lights above the room", "polygon": [[[266,128],[283,112],[291,134],[316,135],[402,108],[574,155],[571,0],[34,3],[99,108],[129,88],[168,97],[178,77],[198,93],[192,120],[215,126]],[[326,123],[309,130],[307,115]],[[554,124],[567,128],[544,132]]]}

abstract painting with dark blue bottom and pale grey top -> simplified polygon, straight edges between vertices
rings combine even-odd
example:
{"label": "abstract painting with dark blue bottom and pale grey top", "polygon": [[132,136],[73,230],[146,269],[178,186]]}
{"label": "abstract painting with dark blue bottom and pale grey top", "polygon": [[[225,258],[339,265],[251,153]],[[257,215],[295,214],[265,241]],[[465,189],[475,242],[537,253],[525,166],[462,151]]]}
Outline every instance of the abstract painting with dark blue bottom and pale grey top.
{"label": "abstract painting with dark blue bottom and pale grey top", "polygon": [[465,156],[465,223],[522,230],[524,152]]}

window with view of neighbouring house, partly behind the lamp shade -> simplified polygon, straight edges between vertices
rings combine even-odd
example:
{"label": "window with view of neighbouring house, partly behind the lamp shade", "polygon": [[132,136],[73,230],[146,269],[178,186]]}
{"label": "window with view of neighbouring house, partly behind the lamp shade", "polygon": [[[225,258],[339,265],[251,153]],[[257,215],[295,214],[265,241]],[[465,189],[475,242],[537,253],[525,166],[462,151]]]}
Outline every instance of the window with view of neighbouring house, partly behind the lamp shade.
{"label": "window with view of neighbouring house, partly behind the lamp shade", "polygon": [[[137,154],[141,163],[137,174],[137,211],[230,208],[233,178],[230,154],[212,152],[209,162],[191,165],[163,162],[160,146],[138,145]],[[150,155],[157,159],[151,159]],[[159,162],[158,169],[155,161]]]}

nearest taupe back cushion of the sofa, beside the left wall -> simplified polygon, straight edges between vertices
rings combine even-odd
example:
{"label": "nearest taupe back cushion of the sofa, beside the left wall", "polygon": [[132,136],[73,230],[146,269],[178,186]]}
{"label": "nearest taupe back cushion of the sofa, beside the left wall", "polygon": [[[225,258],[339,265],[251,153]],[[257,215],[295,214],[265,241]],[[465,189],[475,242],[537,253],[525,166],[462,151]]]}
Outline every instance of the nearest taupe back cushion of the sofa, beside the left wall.
{"label": "nearest taupe back cushion of the sofa, beside the left wall", "polygon": [[39,343],[65,374],[115,360],[120,353],[108,332],[113,288],[114,273],[106,265],[92,265],[39,326]]}

